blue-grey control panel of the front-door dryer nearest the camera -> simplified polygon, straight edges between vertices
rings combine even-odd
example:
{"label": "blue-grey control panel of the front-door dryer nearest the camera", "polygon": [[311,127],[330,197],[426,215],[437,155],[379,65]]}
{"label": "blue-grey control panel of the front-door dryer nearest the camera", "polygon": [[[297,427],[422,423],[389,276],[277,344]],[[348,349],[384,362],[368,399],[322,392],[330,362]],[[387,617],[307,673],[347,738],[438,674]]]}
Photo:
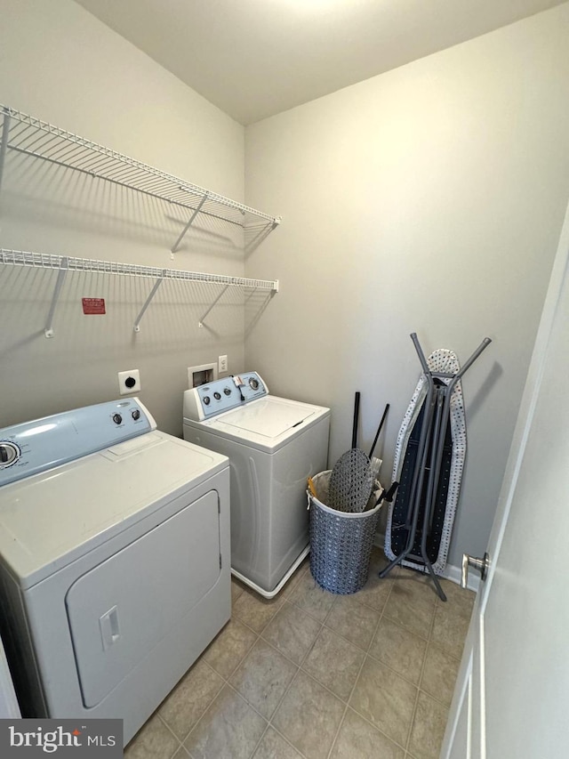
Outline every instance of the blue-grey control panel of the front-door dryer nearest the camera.
{"label": "blue-grey control panel of the front-door dryer nearest the camera", "polygon": [[0,486],[109,448],[156,422],[140,400],[112,400],[0,430]]}

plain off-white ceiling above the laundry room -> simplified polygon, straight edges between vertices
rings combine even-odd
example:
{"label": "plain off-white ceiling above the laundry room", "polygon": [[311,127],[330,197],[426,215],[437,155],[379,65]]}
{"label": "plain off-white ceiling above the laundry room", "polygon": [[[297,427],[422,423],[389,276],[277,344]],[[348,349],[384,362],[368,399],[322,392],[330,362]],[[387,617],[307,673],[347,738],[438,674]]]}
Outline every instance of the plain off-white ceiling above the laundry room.
{"label": "plain off-white ceiling above the laundry room", "polygon": [[76,0],[241,124],[565,0]]}

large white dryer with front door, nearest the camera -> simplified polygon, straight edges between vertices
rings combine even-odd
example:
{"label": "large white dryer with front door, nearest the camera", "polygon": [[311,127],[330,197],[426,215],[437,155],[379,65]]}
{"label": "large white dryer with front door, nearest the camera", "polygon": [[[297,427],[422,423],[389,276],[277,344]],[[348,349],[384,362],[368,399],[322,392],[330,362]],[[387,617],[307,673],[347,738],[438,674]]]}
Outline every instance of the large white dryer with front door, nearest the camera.
{"label": "large white dryer with front door, nearest the camera", "polygon": [[25,717],[128,742],[230,616],[228,459],[117,400],[0,430],[2,639]]}

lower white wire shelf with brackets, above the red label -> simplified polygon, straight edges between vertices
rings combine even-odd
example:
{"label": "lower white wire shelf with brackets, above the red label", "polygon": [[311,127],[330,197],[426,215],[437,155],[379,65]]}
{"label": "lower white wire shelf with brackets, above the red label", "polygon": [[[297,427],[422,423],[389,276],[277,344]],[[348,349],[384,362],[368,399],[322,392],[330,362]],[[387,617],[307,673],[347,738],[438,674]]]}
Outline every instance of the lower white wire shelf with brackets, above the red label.
{"label": "lower white wire shelf with brackets, above the red label", "polygon": [[58,270],[58,279],[52,296],[52,305],[48,314],[44,334],[46,337],[53,337],[53,317],[60,297],[61,287],[66,279],[68,271],[89,271],[102,274],[112,274],[124,277],[143,277],[146,279],[155,279],[146,303],[142,306],[137,319],[134,322],[134,331],[140,331],[140,320],[152,299],[156,295],[158,287],[165,280],[178,280],[186,282],[203,282],[212,285],[224,286],[220,294],[215,298],[202,318],[199,320],[199,326],[202,327],[205,317],[212,311],[213,307],[219,303],[221,297],[229,287],[241,287],[251,290],[266,290],[270,295],[278,292],[277,279],[247,279],[245,277],[230,277],[225,274],[206,274],[201,271],[185,271],[180,269],[160,269],[156,266],[142,266],[137,263],[120,263],[114,261],[100,261],[92,258],[75,258],[73,256],[33,253],[25,250],[9,250],[0,248],[0,263],[9,266],[28,266],[35,269],[54,269]]}

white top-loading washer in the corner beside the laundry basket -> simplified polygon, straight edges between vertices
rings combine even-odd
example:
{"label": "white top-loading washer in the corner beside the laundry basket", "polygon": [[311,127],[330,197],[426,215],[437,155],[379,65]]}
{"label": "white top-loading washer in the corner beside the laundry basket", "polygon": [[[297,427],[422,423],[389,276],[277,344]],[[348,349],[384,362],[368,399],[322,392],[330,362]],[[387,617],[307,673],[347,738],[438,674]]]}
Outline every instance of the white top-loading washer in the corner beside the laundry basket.
{"label": "white top-loading washer in the corner beside the laundry basket", "polygon": [[184,439],[229,458],[231,570],[265,598],[309,553],[307,480],[329,430],[329,408],[270,395],[256,372],[184,392]]}

